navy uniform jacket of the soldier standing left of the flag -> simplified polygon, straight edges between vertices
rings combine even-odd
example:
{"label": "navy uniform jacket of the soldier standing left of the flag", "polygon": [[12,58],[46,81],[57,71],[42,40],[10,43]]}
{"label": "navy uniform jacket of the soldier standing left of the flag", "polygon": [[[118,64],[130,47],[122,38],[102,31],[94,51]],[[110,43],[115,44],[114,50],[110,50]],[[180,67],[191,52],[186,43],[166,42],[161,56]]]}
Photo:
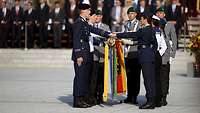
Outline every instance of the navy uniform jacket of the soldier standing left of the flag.
{"label": "navy uniform jacket of the soldier standing left of the flag", "polygon": [[[90,32],[101,36],[108,37],[109,32],[100,30],[88,24],[82,17],[78,17],[73,24],[73,51],[72,60],[83,57],[84,62],[92,62],[93,57],[90,55],[89,36]],[[90,57],[91,56],[91,57]]]}

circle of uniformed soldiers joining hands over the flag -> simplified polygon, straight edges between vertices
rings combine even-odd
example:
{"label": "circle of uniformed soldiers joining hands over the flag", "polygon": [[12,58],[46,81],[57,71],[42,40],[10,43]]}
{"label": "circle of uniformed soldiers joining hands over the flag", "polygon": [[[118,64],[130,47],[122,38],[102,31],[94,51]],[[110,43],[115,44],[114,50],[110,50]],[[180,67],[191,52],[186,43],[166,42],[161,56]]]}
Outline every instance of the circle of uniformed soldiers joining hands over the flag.
{"label": "circle of uniformed soldiers joining hands over the flag", "polygon": [[[79,17],[73,24],[73,106],[87,108],[103,102],[103,45],[108,37],[124,43],[128,92],[123,102],[138,103],[142,71],[147,102],[139,108],[166,106],[177,36],[174,24],[165,19],[165,9],[160,7],[153,16],[141,14],[139,21],[137,10],[130,7],[124,31],[118,33],[111,33],[107,25],[97,21],[101,11],[93,15],[90,5],[84,3],[79,5],[79,10]],[[105,27],[98,27],[98,23]]]}

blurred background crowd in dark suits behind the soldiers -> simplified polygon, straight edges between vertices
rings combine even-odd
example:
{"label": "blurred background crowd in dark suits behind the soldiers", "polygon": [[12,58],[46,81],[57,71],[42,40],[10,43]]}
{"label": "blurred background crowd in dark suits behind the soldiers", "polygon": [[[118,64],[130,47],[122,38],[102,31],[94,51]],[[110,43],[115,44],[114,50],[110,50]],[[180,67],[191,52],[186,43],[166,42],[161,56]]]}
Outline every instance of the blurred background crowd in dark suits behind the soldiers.
{"label": "blurred background crowd in dark suits behind the soldiers", "polygon": [[78,4],[86,2],[91,10],[102,10],[103,23],[112,32],[123,31],[127,9],[154,14],[166,9],[166,19],[174,23],[177,35],[188,17],[199,12],[199,0],[0,0],[0,48],[72,47],[72,24]]}

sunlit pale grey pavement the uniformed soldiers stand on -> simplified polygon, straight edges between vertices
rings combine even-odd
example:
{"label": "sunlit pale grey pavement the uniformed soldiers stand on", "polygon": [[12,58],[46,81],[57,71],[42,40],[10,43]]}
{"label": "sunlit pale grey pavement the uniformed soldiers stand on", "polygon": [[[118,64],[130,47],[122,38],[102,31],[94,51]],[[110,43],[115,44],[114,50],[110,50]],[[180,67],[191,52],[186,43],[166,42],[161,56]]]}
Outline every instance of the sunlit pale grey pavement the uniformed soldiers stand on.
{"label": "sunlit pale grey pavement the uniformed soldiers stand on", "polygon": [[[1,68],[0,113],[200,113],[200,78],[187,76],[190,61],[188,53],[177,53],[171,67],[169,104],[154,110],[118,102],[73,108],[72,63],[66,68]],[[144,103],[144,94],[142,86],[139,104]]]}

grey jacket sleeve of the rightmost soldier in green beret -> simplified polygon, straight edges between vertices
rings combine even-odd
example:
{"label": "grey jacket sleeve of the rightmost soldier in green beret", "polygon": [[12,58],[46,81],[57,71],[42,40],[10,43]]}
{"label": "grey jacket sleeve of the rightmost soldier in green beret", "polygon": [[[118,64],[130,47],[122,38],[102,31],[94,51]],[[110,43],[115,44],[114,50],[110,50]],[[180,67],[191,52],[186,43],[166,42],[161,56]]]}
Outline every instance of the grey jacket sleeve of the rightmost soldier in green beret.
{"label": "grey jacket sleeve of the rightmost soldier in green beret", "polygon": [[170,40],[172,41],[170,56],[174,58],[176,54],[176,49],[177,49],[177,36],[176,36],[176,30],[173,24],[171,24],[171,29],[170,29]]}

